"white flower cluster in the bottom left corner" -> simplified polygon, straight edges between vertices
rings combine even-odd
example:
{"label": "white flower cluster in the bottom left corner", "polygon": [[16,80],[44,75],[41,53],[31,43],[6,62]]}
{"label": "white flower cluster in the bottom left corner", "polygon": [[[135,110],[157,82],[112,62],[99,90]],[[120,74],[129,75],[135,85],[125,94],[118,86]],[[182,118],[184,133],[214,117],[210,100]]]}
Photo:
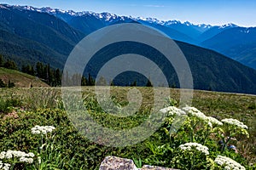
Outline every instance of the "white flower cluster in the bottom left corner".
{"label": "white flower cluster in the bottom left corner", "polygon": [[20,150],[7,150],[0,153],[0,159],[19,158],[20,162],[32,163],[35,155],[32,152],[26,154]]}

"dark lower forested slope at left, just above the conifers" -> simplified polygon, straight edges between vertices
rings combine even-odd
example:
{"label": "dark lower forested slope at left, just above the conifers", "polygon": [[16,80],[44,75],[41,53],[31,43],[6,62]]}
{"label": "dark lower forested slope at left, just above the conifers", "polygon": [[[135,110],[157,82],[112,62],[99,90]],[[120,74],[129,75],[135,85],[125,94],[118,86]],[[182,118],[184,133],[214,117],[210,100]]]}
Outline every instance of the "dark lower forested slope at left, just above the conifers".
{"label": "dark lower forested slope at left, just above the conifers", "polygon": [[35,64],[40,61],[51,63],[55,67],[61,67],[65,62],[63,55],[56,53],[43,44],[1,29],[0,52],[8,59],[14,59],[18,65],[26,65],[27,62]]}

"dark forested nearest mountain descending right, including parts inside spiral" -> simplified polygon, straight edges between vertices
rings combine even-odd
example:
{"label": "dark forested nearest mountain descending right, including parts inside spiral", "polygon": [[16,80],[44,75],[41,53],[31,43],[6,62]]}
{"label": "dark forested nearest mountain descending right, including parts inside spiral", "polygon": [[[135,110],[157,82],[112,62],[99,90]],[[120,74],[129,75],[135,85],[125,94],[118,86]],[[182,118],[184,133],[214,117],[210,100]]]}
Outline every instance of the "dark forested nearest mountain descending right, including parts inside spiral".
{"label": "dark forested nearest mountain descending right, including parts inside spiral", "polygon": [[[206,48],[199,48],[188,43],[177,42],[189,62],[195,89],[256,94],[256,71]],[[154,48],[137,42],[119,42],[102,48],[90,60],[85,74],[96,77],[97,72],[113,56],[120,54],[139,54],[146,56],[162,69],[169,85],[179,87],[177,75],[168,60]],[[127,85],[137,81],[144,86],[148,77],[133,72],[125,72],[114,80],[116,85]]]}

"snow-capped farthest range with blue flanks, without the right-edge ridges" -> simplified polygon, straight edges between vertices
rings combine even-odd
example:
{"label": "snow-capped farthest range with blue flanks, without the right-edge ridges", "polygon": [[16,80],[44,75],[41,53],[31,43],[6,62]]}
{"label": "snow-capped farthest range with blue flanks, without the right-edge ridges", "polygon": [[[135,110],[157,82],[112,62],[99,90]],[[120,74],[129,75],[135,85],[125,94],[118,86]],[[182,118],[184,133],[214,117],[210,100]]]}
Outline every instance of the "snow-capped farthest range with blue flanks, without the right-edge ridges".
{"label": "snow-capped farthest range with blue flanks, without the right-edge ridges", "polygon": [[[132,16],[119,16],[117,14],[110,14],[107,12],[97,14],[90,11],[75,12],[73,10],[62,10],[59,8],[49,7],[34,8],[31,6],[10,6],[3,4],[3,7],[4,6],[7,8],[30,10],[55,15],[55,17],[66,21],[69,25],[84,32],[85,34],[89,34],[91,31],[96,31],[104,26],[113,25],[115,23],[138,22],[146,26],[153,26],[154,28],[160,29],[160,31],[165,32],[174,39],[193,44],[197,44],[197,42],[201,42],[201,40],[206,40],[207,38],[212,37],[212,35],[214,36],[216,33],[226,29],[236,27],[234,24],[227,24],[224,26],[211,26],[207,24],[196,25],[189,21],[181,22],[179,20],[158,20],[150,17],[135,18]],[[172,29],[171,32],[170,29]]]}

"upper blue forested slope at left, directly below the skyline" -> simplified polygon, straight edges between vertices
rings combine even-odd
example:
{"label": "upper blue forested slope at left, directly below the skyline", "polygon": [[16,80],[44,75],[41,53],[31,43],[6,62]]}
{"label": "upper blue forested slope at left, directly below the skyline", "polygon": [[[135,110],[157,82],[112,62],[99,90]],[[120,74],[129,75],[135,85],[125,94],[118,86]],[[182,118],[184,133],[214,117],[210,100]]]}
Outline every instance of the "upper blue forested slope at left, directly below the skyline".
{"label": "upper blue forested slope at left, directly below the skyline", "polygon": [[19,10],[15,7],[1,8],[0,12],[1,28],[43,43],[60,54],[68,54],[76,42],[84,37],[67,23],[49,14]]}

